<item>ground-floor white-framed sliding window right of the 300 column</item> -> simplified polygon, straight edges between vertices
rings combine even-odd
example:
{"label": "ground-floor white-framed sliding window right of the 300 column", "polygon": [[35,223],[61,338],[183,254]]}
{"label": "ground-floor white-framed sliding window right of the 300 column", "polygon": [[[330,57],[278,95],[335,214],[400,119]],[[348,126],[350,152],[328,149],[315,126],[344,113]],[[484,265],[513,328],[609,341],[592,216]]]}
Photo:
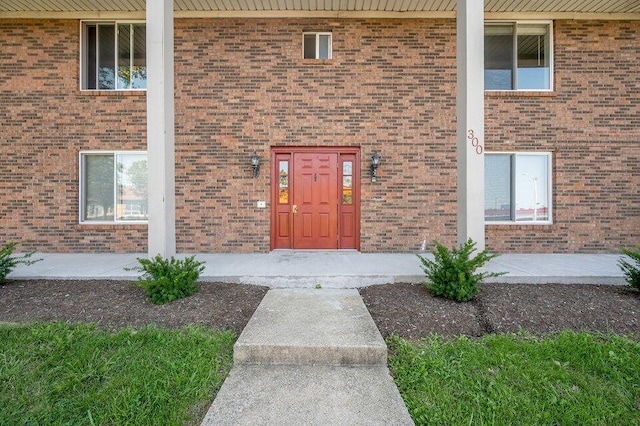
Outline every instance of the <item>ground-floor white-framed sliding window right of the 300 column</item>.
{"label": "ground-floor white-framed sliding window right of the 300 column", "polygon": [[551,153],[485,153],[484,220],[551,223]]}

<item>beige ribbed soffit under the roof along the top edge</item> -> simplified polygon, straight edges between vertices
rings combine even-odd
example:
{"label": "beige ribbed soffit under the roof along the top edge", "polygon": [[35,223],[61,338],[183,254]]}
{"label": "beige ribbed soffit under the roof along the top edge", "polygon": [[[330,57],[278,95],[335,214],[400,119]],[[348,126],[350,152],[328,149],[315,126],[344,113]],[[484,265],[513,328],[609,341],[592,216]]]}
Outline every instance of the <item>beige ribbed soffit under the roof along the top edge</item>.
{"label": "beige ribbed soffit under the roof along the top edge", "polygon": [[[152,2],[153,0],[150,0]],[[144,13],[145,0],[1,0],[0,17]],[[176,17],[455,17],[456,0],[175,0]],[[487,17],[640,19],[640,0],[485,0]]]}

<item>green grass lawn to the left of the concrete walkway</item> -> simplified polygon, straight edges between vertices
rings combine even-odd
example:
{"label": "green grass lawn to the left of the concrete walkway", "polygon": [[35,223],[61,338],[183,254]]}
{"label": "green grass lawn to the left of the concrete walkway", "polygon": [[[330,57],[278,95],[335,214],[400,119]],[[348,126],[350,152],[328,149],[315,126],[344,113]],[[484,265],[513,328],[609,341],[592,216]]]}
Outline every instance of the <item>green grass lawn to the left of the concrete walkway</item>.
{"label": "green grass lawn to the left of the concrete walkway", "polygon": [[198,424],[235,339],[196,327],[0,324],[0,425]]}

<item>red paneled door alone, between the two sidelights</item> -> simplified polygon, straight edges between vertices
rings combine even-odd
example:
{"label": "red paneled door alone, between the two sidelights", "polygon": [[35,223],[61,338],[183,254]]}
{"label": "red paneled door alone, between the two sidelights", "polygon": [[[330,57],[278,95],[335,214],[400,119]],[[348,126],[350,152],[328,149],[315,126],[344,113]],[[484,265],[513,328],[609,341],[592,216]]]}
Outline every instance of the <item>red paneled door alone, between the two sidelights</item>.
{"label": "red paneled door alone, between the two sidelights", "polygon": [[338,155],[293,154],[293,248],[338,248]]}

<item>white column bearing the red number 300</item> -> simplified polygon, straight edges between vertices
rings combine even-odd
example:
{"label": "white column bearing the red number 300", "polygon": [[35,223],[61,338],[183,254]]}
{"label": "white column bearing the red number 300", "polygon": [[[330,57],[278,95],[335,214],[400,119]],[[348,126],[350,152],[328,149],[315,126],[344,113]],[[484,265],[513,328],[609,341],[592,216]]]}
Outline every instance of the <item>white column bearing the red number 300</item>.
{"label": "white column bearing the red number 300", "polygon": [[458,243],[484,238],[484,2],[457,4]]}

